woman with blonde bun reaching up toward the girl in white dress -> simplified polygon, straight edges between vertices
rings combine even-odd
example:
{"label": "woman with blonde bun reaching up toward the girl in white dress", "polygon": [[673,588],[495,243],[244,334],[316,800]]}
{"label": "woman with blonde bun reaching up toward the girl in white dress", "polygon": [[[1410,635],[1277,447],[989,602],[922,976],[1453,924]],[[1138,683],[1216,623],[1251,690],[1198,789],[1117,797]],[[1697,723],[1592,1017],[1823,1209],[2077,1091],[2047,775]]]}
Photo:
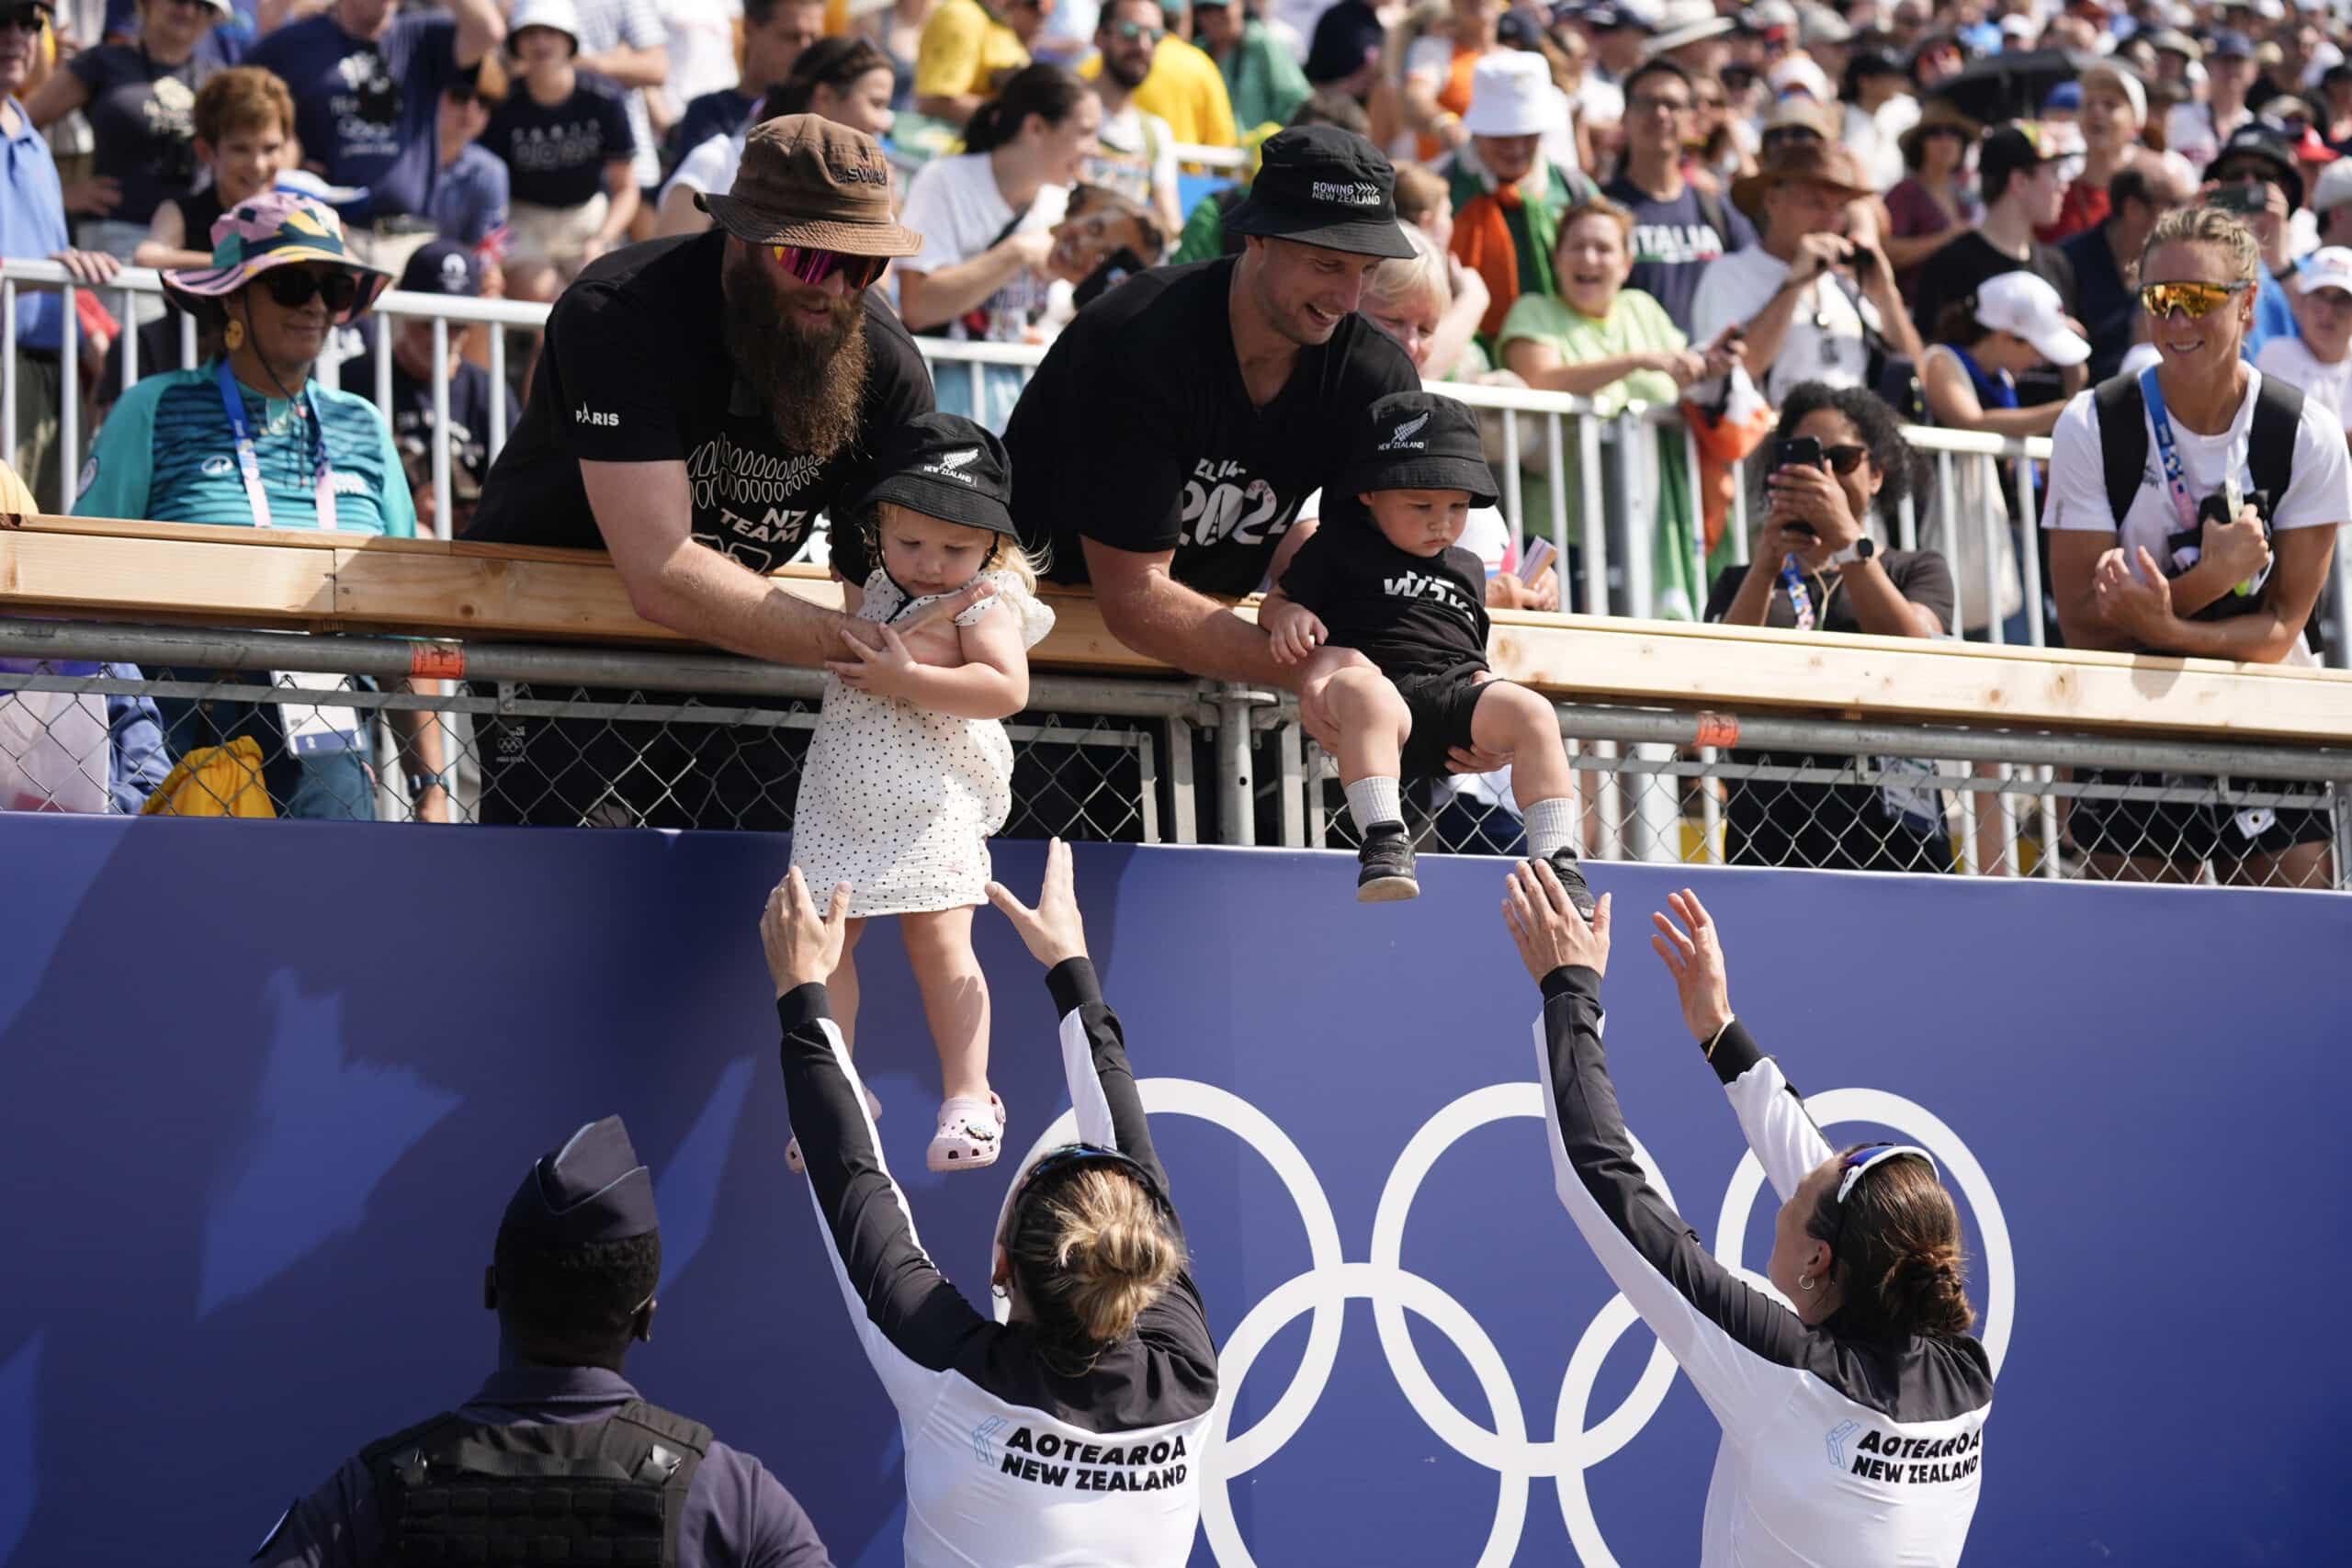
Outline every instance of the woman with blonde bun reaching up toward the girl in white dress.
{"label": "woman with blonde bun reaching up toward the girl in white dress", "polygon": [[1035,910],[997,884],[988,898],[1047,966],[1084,1140],[1014,1178],[997,1220],[1002,1324],[922,1251],[828,1013],[849,886],[821,917],[793,870],[760,924],[826,1255],[906,1439],[906,1563],[1181,1568],[1216,1406],[1209,1309],[1185,1269],[1120,1018],[1087,959],[1070,849],[1056,839],[1047,853]]}

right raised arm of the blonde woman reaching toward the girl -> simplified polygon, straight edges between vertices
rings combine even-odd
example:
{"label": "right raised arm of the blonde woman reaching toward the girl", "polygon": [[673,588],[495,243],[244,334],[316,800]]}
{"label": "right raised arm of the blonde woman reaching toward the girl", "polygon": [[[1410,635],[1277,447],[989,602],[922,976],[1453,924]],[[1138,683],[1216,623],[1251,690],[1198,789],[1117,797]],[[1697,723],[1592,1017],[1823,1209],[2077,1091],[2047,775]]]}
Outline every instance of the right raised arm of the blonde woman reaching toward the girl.
{"label": "right raised arm of the blonde woman reaching toward the girl", "polygon": [[1011,896],[1002,882],[988,884],[988,903],[1014,922],[1030,957],[1044,964],[1044,985],[1061,1013],[1061,1070],[1070,1079],[1070,1107],[1082,1143],[1120,1150],[1169,1190],[1169,1173],[1152,1150],[1152,1126],[1127,1065],[1127,1032],[1103,1001],[1103,985],[1087,957],[1087,926],[1070,886],[1070,846],[1061,839],[1044,853],[1044,889],[1037,907]]}

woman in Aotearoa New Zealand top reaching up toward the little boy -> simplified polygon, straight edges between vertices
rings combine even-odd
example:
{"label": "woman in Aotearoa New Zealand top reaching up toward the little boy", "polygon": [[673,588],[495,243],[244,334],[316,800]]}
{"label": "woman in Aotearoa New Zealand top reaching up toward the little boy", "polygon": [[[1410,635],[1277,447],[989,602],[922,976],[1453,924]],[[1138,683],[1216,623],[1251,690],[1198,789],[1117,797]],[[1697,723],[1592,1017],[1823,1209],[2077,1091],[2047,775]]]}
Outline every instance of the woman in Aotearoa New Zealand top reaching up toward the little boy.
{"label": "woman in Aotearoa New Zealand top reaching up toward the little boy", "polygon": [[[1780,1194],[1766,1274],[1726,1269],[1649,1185],[1602,1051],[1609,898],[1588,926],[1548,865],[1503,898],[1543,985],[1536,1058],[1559,1201],[1724,1427],[1700,1568],[1950,1566],[1969,1537],[1992,1406],[1959,1211],[1910,1145],[1832,1152],[1731,1013],[1715,922],[1689,891],[1653,947]],[[1788,1302],[1795,1302],[1790,1307]]]}

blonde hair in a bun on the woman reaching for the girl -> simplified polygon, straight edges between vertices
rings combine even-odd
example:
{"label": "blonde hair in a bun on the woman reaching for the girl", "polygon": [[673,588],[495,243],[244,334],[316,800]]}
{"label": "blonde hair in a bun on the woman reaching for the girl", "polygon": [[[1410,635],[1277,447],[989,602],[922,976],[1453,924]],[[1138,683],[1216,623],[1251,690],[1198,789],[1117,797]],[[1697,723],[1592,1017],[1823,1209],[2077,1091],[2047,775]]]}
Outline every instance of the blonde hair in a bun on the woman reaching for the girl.
{"label": "blonde hair in a bun on the woman reaching for the girl", "polygon": [[1183,1269],[1176,1232],[1127,1171],[1080,1166],[1025,1208],[1004,1253],[1040,1328],[1082,1354],[1134,1333]]}

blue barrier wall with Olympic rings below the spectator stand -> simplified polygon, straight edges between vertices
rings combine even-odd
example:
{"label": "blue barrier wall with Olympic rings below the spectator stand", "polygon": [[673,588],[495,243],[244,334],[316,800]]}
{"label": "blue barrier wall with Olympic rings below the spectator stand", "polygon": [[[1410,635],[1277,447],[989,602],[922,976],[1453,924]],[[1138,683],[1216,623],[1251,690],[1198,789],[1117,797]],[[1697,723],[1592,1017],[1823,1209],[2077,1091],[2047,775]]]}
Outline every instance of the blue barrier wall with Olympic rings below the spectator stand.
{"label": "blue barrier wall with Olympic rings below the spectator stand", "polygon": [[[238,1561],[343,1453],[466,1396],[506,1194],[612,1110],[668,1251],[630,1373],[764,1455],[844,1568],[898,1561],[896,1427],[781,1154],[755,917],[783,860],[0,816],[0,1561]],[[1040,860],[997,856],[1021,889]],[[1715,1427],[1550,1194],[1501,863],[1425,860],[1383,907],[1338,856],[1077,865],[1237,1382],[1247,1469],[1195,1563],[1691,1561]],[[1618,1084],[1691,1225],[1762,1267],[1771,1204],[1722,1218],[1738,1128],[1642,940],[1679,879],[1595,877]],[[1839,1091],[1832,1138],[1957,1171],[2004,1342],[1971,1559],[2336,1561],[2352,900],[1689,879],[1740,1013]],[[995,914],[981,943],[1025,1147],[1063,1110],[1049,1004]],[[887,1152],[985,1288],[1004,1168],[922,1171],[936,1065],[894,936],[863,957]]]}

